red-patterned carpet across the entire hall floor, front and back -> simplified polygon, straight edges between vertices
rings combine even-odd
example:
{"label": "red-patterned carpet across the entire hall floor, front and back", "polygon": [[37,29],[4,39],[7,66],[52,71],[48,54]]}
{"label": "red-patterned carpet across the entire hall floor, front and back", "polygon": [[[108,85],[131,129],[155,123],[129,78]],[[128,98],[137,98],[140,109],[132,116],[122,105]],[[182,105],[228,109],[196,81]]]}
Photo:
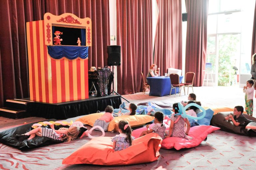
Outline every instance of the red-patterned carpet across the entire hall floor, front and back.
{"label": "red-patterned carpet across the entire hall floor, front and back", "polygon": [[[191,89],[190,89],[191,90]],[[242,88],[238,87],[195,87],[197,99],[202,102],[202,106],[228,106],[244,105],[244,93]],[[144,101],[169,101],[178,102],[187,100],[187,95],[171,95],[164,97],[149,96],[146,94],[136,93],[123,95],[126,99],[134,103]],[[255,110],[255,109],[254,109]],[[255,114],[254,114],[255,116]],[[12,121],[0,117],[9,127],[0,128],[0,131],[22,124],[24,120],[19,120],[15,124]],[[76,118],[71,118],[75,120]],[[34,118],[33,118],[34,120]],[[38,118],[42,120],[42,118]],[[31,122],[26,119],[26,122]],[[1,123],[1,122],[0,122]],[[0,124],[1,125],[1,124]],[[88,127],[90,129],[90,127]],[[93,135],[100,135],[95,131]],[[106,136],[114,136],[116,133],[106,132]],[[29,151],[20,151],[0,143],[0,169],[54,169],[54,170],[150,170],[163,166],[167,170],[252,170],[256,167],[256,138],[248,136],[239,136],[225,131],[217,130],[215,133],[208,135],[207,140],[199,146],[189,149],[160,149],[160,157],[157,161],[145,164],[128,165],[128,166],[98,166],[98,165],[62,165],[62,160],[73,153],[76,149],[88,142],[90,139],[84,137],[69,143],[60,143],[49,145]],[[86,153],[85,153],[86,154]]]}

